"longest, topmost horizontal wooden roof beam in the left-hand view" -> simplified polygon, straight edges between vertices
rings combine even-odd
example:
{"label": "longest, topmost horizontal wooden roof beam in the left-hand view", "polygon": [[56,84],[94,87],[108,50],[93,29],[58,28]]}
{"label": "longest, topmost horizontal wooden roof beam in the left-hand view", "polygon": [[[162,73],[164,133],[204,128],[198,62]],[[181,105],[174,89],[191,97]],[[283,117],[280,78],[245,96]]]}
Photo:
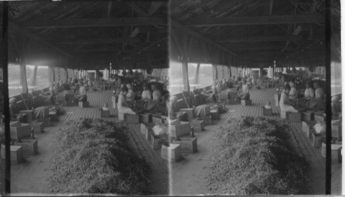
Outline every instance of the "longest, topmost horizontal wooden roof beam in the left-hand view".
{"label": "longest, topmost horizontal wooden roof beam in the left-hand view", "polygon": [[167,25],[166,20],[157,17],[102,18],[102,19],[61,19],[46,21],[41,19],[26,23],[26,28],[90,28],[116,27],[126,25]]}

